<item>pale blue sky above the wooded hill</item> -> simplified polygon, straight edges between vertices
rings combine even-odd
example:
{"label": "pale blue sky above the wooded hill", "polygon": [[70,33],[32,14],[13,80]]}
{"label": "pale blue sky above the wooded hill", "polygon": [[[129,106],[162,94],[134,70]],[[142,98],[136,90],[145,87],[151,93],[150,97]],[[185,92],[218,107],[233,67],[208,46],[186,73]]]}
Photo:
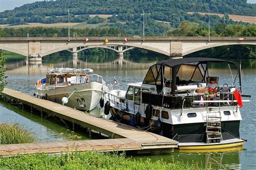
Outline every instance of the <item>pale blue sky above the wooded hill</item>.
{"label": "pale blue sky above the wooded hill", "polygon": [[[15,7],[22,6],[24,4],[33,3],[43,0],[0,0],[0,11],[12,10]],[[247,0],[247,3],[256,3],[256,0]]]}

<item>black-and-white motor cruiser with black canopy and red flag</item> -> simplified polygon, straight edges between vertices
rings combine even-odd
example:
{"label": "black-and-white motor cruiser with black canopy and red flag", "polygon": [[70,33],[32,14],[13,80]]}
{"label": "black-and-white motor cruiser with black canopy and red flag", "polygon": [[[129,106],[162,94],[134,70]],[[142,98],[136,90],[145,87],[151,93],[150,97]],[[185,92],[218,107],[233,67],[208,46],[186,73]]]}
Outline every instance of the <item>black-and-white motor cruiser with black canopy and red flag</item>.
{"label": "black-and-white motor cruiser with black canopy and red flag", "polygon": [[[230,68],[231,84],[211,91],[206,88],[210,79],[219,84],[219,78],[208,70],[211,63]],[[235,76],[231,67],[236,68]],[[150,67],[142,83],[128,84],[127,91],[108,87],[105,109],[109,107],[112,120],[177,140],[179,149],[219,149],[244,143],[239,134],[239,107],[251,96],[238,93],[238,63],[214,58],[163,60]]]}

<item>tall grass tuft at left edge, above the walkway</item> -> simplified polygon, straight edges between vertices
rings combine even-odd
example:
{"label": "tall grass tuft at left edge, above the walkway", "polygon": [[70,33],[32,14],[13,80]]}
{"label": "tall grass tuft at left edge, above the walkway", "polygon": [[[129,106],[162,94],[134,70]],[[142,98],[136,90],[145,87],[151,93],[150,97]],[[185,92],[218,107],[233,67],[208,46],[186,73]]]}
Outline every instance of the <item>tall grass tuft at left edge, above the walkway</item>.
{"label": "tall grass tuft at left edge, above the walkway", "polygon": [[37,141],[32,132],[26,130],[18,123],[0,124],[0,144],[24,144]]}

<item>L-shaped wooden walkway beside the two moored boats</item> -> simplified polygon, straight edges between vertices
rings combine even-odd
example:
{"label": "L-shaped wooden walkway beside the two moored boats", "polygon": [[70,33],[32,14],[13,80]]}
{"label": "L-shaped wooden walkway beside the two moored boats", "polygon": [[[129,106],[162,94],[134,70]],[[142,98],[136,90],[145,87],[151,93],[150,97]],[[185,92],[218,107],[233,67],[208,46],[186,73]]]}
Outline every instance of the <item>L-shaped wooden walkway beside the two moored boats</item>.
{"label": "L-shaped wooden walkway beside the two moored boats", "polygon": [[172,151],[173,148],[178,146],[177,141],[165,138],[161,135],[139,130],[138,128],[127,126],[125,124],[117,124],[115,121],[95,117],[91,114],[73,110],[73,108],[56,104],[52,101],[38,99],[19,91],[5,88],[3,95],[6,98],[31,106],[39,111],[55,115],[56,117],[68,120],[71,123],[104,133],[113,139],[0,145],[0,156],[36,152],[60,153],[67,151],[70,146],[76,146],[77,151],[136,150],[138,153],[158,152],[161,149],[164,151]]}

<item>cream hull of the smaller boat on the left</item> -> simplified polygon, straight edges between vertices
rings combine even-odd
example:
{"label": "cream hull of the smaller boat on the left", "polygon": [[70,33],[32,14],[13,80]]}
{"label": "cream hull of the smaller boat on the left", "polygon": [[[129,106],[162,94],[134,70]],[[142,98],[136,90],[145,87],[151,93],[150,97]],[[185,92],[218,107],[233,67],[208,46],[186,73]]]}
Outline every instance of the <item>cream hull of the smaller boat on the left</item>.
{"label": "cream hull of the smaller boat on the left", "polygon": [[66,106],[76,108],[77,110],[93,110],[102,96],[102,84],[97,82],[89,82],[65,87],[58,87],[51,90],[37,90],[36,96],[50,101],[56,99],[56,102],[62,104],[63,97],[69,97]]}

